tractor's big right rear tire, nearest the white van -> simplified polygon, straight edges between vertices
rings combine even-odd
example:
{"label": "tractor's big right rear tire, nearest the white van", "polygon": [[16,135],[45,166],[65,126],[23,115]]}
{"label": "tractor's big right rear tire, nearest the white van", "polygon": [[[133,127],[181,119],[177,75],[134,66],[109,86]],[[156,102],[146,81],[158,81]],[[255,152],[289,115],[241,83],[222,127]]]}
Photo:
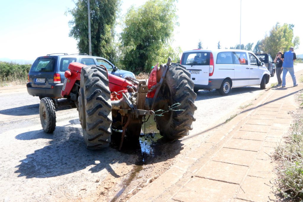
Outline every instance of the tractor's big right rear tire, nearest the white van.
{"label": "tractor's big right rear tire, nearest the white van", "polygon": [[157,128],[163,137],[175,140],[188,135],[189,130],[192,130],[192,122],[195,121],[196,97],[190,73],[182,65],[171,63],[153,110],[168,111],[170,106],[180,103],[175,110],[183,111],[168,111],[162,114],[163,116],[155,116]]}

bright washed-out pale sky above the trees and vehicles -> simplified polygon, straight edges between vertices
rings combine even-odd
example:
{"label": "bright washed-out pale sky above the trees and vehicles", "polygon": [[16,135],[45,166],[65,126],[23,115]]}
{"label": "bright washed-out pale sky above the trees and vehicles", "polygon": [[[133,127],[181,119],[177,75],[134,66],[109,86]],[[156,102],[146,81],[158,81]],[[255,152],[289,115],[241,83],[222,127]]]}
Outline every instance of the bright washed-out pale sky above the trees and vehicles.
{"label": "bright washed-out pale sky above the trees and vehicles", "polygon": [[[179,0],[179,27],[175,28],[173,46],[182,51],[194,49],[201,40],[203,48],[235,46],[240,41],[241,0]],[[131,5],[145,0],[124,0],[121,16]],[[303,54],[303,1],[242,0],[241,43],[255,43],[264,38],[276,22],[294,24],[294,34],[301,39],[297,54]],[[0,58],[34,60],[49,53],[77,53],[77,42],[68,37],[71,0],[1,1]],[[121,29],[117,28],[117,31]]]}

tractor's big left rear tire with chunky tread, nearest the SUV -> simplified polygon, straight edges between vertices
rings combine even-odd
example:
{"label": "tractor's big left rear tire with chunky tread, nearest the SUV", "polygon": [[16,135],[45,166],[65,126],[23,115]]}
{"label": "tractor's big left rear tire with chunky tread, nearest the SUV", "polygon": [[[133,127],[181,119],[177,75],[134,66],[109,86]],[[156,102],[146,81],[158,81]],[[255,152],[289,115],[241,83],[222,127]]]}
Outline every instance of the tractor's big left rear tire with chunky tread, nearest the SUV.
{"label": "tractor's big left rear tire with chunky tread, nearest the SUV", "polygon": [[112,105],[107,72],[98,65],[82,68],[79,119],[87,149],[108,147],[112,134]]}

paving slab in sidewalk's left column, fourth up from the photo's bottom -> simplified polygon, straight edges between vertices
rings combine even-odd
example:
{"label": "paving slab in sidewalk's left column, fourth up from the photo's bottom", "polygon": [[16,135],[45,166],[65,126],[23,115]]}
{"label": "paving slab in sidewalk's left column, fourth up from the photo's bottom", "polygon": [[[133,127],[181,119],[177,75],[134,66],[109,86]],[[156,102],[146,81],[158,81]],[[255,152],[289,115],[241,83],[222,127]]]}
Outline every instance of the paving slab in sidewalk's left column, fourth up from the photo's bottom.
{"label": "paving slab in sidewalk's left column, fourth up from the photo's bottom", "polygon": [[245,140],[231,138],[223,147],[232,149],[242,149],[248,151],[258,151],[262,141],[258,140]]}

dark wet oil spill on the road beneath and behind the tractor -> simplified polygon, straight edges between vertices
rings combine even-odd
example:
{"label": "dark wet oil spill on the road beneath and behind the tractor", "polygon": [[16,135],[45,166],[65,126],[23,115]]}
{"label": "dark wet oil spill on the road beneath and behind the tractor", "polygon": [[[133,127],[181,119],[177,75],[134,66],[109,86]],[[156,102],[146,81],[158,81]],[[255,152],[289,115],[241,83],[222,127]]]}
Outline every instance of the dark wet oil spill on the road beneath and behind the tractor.
{"label": "dark wet oil spill on the road beneath and behind the tractor", "polygon": [[[145,133],[144,133],[145,131]],[[121,133],[118,133],[121,135]],[[120,135],[117,135],[120,137]],[[128,185],[135,179],[136,175],[143,169],[143,165],[148,164],[152,161],[153,157],[156,157],[157,152],[157,141],[161,139],[161,135],[157,130],[156,123],[153,117],[150,117],[148,121],[142,125],[142,133],[140,134],[139,141],[137,143],[128,142],[127,137],[125,137],[122,146],[122,152],[128,154],[138,154],[138,161],[134,165],[134,169],[129,177],[123,182],[123,187],[115,197],[111,200],[114,202],[118,199],[123,191],[128,187]],[[118,142],[117,142],[118,143]],[[112,144],[112,147],[117,148],[117,143]]]}

